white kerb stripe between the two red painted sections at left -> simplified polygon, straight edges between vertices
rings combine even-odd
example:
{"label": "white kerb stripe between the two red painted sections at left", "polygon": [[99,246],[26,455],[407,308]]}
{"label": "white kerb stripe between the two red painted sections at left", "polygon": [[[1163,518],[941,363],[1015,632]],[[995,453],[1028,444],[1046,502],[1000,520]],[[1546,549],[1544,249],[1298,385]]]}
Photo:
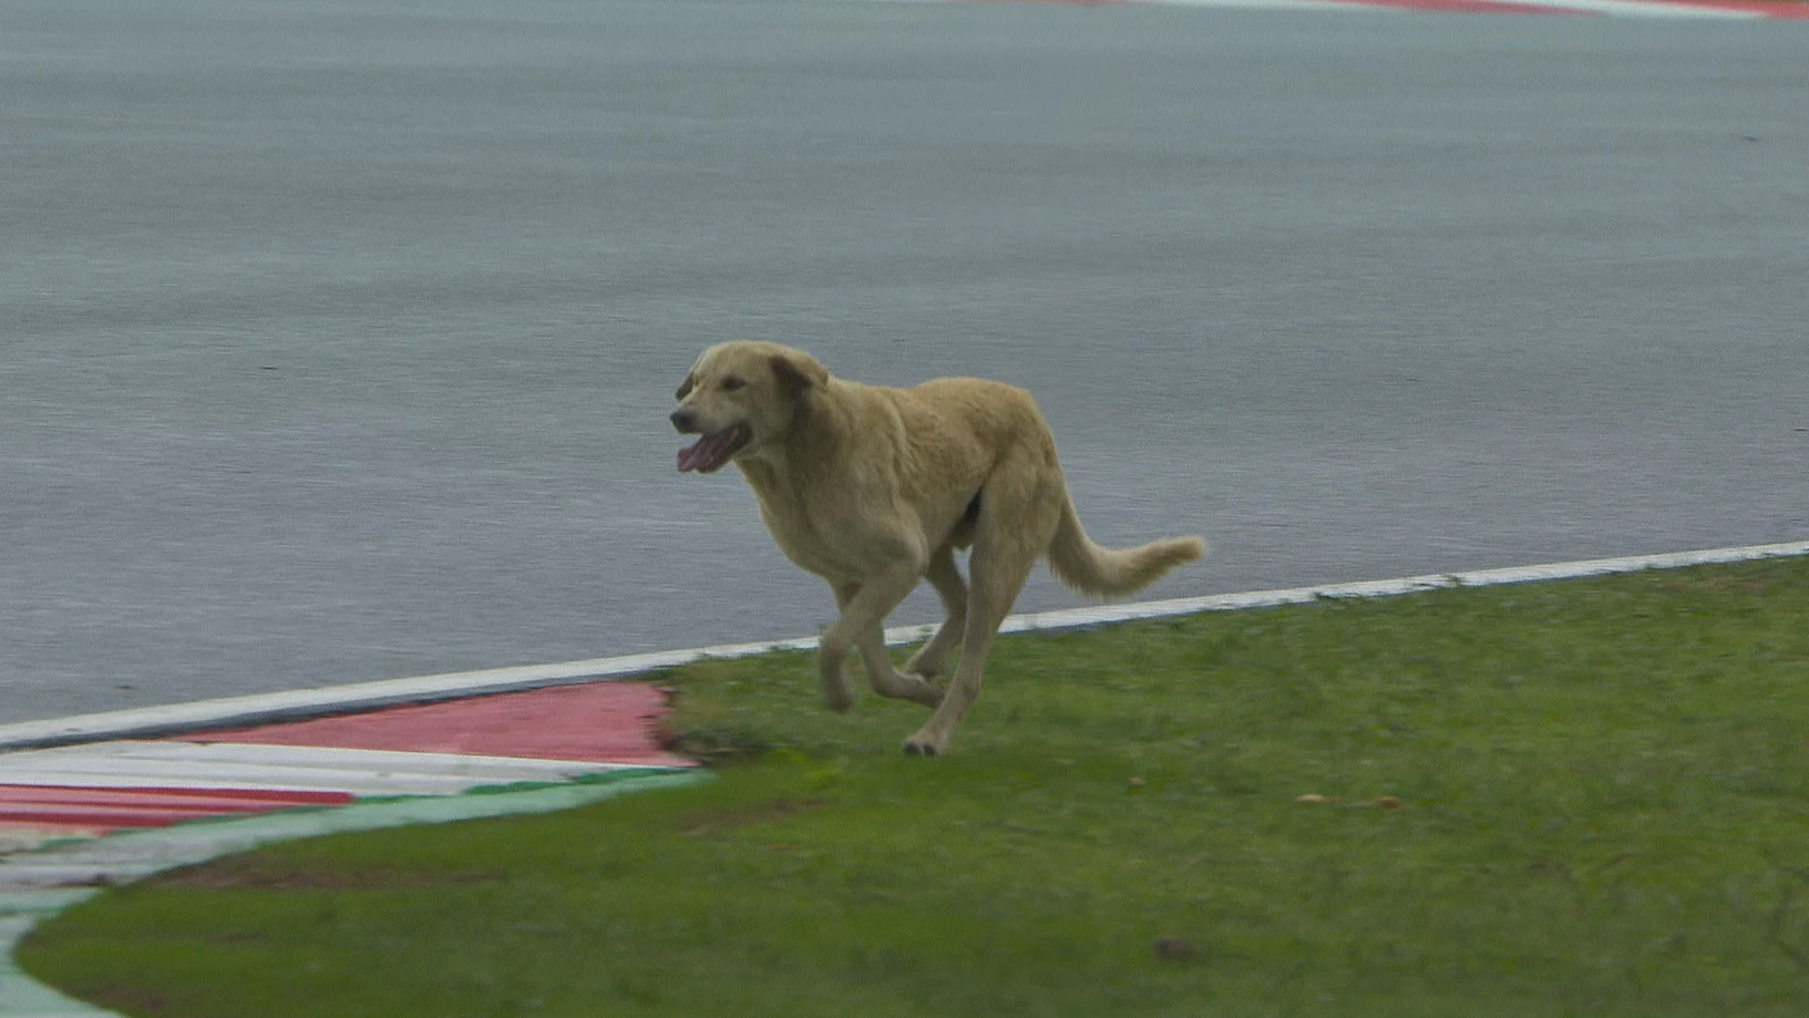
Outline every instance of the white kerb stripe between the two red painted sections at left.
{"label": "white kerb stripe between the two red painted sections at left", "polygon": [[570,781],[620,763],[255,743],[103,741],[0,754],[0,785],[255,788],[456,796],[485,785]]}

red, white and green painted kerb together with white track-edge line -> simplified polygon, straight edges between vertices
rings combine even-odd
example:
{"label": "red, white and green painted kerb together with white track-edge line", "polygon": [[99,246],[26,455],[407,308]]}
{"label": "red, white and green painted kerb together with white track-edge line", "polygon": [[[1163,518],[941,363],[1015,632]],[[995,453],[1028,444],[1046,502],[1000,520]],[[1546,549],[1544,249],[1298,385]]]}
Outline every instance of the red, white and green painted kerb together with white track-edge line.
{"label": "red, white and green painted kerb together with white track-edge line", "polygon": [[[1046,611],[1000,631],[1795,555],[1809,555],[1809,541]],[[930,629],[888,629],[886,642]],[[814,646],[696,647],[0,725],[0,1018],[112,1014],[13,962],[36,922],[101,888],[275,841],[552,812],[706,779],[660,747],[664,693],[624,680]]]}

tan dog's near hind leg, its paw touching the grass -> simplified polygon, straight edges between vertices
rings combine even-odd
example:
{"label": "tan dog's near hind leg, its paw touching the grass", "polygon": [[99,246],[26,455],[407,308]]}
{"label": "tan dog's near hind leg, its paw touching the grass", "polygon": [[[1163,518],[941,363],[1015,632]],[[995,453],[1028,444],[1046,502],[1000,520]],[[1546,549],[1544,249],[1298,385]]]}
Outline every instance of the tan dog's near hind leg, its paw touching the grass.
{"label": "tan dog's near hind leg, its paw touching the grass", "polygon": [[986,655],[999,624],[1011,613],[1031,566],[1055,535],[1062,503],[1053,495],[1060,495],[1060,488],[1051,488],[1046,470],[1031,463],[1002,463],[986,481],[973,555],[968,559],[968,624],[961,664],[935,714],[904,740],[904,752],[946,752],[962,716],[980,698]]}

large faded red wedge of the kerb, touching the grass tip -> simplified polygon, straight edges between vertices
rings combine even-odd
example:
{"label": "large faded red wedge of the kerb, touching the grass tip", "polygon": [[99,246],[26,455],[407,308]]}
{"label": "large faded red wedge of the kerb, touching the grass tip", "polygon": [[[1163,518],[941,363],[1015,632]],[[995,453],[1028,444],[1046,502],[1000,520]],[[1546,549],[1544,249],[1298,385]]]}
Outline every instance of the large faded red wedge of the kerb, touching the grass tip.
{"label": "large faded red wedge of the kerb, touching the grass tip", "polygon": [[311,745],[691,767],[660,749],[666,696],[646,682],[593,682],[340,718],[181,736],[181,741]]}

